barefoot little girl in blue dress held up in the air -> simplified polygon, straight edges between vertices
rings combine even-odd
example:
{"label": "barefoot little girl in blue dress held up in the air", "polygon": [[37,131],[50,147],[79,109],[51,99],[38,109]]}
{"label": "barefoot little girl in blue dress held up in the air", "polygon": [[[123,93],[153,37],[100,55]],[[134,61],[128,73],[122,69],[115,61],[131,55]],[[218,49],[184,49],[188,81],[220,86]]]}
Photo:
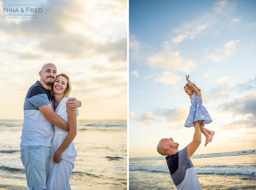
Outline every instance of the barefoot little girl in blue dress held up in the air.
{"label": "barefoot little girl in blue dress held up in the air", "polygon": [[192,127],[194,126],[195,121],[203,120],[203,124],[200,125],[201,132],[206,137],[205,144],[206,146],[209,142],[212,141],[212,137],[214,135],[214,131],[210,131],[206,128],[204,128],[204,124],[208,124],[212,122],[212,118],[206,108],[202,105],[202,96],[201,96],[201,90],[191,81],[188,79],[189,75],[186,75],[187,84],[184,87],[185,93],[189,95],[191,99],[191,106],[189,109],[189,115],[185,123],[185,127]]}

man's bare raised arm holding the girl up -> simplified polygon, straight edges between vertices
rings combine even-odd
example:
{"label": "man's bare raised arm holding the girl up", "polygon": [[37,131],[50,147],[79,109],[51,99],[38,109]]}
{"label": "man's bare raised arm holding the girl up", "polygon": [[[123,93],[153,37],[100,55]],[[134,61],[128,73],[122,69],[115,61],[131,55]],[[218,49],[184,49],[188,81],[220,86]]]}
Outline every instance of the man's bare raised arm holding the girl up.
{"label": "man's bare raised arm holding the girl up", "polygon": [[195,132],[194,132],[193,140],[189,145],[187,145],[188,159],[194,154],[194,152],[196,151],[196,149],[199,147],[201,143],[201,129],[200,129],[201,122],[202,120],[195,122]]}

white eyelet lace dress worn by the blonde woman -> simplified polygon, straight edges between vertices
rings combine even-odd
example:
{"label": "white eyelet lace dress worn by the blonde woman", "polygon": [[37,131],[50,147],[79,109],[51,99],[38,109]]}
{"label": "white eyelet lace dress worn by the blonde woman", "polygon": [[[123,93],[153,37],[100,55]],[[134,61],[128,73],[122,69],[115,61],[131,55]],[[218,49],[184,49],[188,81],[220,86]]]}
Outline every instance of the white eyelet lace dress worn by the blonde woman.
{"label": "white eyelet lace dress worn by the blonde woman", "polygon": [[[66,110],[66,102],[70,97],[64,97],[55,112],[60,115],[68,123],[68,113]],[[76,110],[76,116],[78,110]],[[52,148],[51,148],[51,160],[49,168],[49,177],[46,184],[47,190],[71,190],[69,185],[69,178],[72,170],[74,169],[75,158],[77,151],[73,142],[64,150],[61,154],[61,161],[55,163],[53,156],[56,150],[60,147],[68,132],[53,125],[53,137],[52,137]]]}

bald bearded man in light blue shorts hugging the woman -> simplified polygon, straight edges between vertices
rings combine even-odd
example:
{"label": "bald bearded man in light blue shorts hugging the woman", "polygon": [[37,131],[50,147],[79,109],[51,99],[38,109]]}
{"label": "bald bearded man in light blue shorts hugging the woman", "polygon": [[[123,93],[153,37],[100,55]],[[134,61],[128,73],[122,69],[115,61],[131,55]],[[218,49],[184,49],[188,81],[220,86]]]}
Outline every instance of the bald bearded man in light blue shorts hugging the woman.
{"label": "bald bearded man in light blue shorts hugging the woman", "polygon": [[[39,71],[40,81],[32,85],[24,102],[24,121],[20,142],[20,155],[29,189],[44,190],[48,178],[53,124],[69,130],[64,119],[54,112],[50,86],[56,79],[57,69],[52,63]],[[69,108],[76,109],[81,102],[69,101]],[[53,123],[53,124],[52,124]]]}

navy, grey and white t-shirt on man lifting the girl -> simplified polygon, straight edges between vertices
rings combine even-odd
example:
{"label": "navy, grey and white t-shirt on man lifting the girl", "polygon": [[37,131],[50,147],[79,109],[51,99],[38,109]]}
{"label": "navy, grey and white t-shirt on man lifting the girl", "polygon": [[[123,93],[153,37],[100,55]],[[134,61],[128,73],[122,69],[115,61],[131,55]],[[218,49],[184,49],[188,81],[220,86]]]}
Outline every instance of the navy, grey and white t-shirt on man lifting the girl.
{"label": "navy, grey and white t-shirt on man lifting the girl", "polygon": [[178,190],[201,190],[194,166],[188,159],[187,147],[177,153],[166,156],[166,162],[172,180]]}

